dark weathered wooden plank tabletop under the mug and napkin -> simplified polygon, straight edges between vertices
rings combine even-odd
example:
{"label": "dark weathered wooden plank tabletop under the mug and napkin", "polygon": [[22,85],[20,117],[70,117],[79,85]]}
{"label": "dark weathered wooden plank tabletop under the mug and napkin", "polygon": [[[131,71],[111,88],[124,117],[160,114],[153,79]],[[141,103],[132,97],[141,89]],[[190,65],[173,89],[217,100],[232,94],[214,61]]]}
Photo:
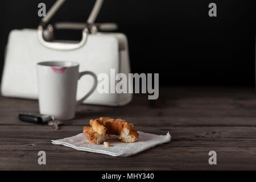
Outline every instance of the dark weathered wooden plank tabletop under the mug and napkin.
{"label": "dark weathered wooden plank tabletop under the mug and napkin", "polygon": [[[82,105],[72,123],[54,131],[20,122],[20,111],[38,111],[38,101],[0,97],[0,169],[172,170],[256,169],[256,92],[254,88],[160,88],[148,101],[136,94],[123,107]],[[124,118],[138,130],[172,135],[162,144],[128,158],[56,146],[52,139],[81,133],[89,119]],[[38,151],[46,151],[46,165]],[[209,151],[217,165],[209,165]]]}

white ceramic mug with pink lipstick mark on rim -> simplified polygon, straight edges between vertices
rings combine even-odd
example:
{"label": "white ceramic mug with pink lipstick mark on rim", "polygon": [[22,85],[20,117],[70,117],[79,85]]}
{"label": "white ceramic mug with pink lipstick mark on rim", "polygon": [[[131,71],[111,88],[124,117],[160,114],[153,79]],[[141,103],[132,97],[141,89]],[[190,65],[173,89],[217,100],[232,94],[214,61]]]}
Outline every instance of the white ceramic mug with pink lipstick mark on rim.
{"label": "white ceramic mug with pink lipstick mark on rim", "polygon": [[[71,61],[45,61],[37,64],[40,114],[52,115],[59,120],[75,117],[76,106],[81,104],[97,86],[93,72],[79,73],[79,64]],[[94,78],[92,89],[76,101],[77,81],[83,75]]]}

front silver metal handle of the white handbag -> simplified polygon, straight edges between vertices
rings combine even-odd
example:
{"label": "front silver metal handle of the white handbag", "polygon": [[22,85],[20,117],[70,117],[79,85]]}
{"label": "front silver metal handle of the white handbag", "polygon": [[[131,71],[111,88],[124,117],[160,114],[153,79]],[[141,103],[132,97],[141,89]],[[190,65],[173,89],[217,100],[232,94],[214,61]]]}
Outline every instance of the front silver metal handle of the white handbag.
{"label": "front silver metal handle of the white handbag", "polygon": [[[97,0],[96,3],[94,4],[93,10],[90,13],[89,18],[87,20],[88,24],[94,23],[95,19],[97,18],[97,15],[101,9],[103,1],[104,0]],[[59,10],[60,6],[63,5],[64,2],[65,2],[65,0],[57,0],[55,2],[55,4],[51,7],[51,9],[47,12],[46,16],[44,18],[42,18],[42,21],[39,24],[37,31],[38,31],[38,40],[43,46],[51,48],[51,49],[68,51],[68,50],[80,48],[85,44],[85,42],[88,38],[88,34],[89,34],[88,27],[85,27],[84,30],[82,30],[82,39],[79,43],[47,42],[43,38],[44,27],[49,22],[49,19],[51,19],[52,16],[57,12],[57,10]]]}

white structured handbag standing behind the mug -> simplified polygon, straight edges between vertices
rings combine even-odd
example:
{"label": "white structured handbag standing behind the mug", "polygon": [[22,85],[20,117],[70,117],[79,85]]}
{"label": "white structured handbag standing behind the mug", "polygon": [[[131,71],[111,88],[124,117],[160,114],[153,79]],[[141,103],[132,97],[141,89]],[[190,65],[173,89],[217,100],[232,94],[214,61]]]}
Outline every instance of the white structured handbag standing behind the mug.
{"label": "white structured handbag standing behind the mug", "polygon": [[[97,0],[86,24],[59,23],[61,28],[81,28],[82,39],[74,42],[50,42],[49,30],[44,30],[49,19],[56,13],[65,0],[58,0],[42,19],[37,30],[12,30],[6,47],[5,64],[1,82],[1,93],[6,97],[38,99],[36,63],[46,60],[67,60],[80,64],[80,71],[92,71],[96,75],[110,69],[117,73],[130,73],[130,61],[127,38],[121,33],[97,32],[97,27],[108,24],[94,24],[103,0]],[[111,24],[110,24],[111,25]],[[49,27],[49,26],[48,26]],[[89,32],[90,31],[90,32]],[[114,78],[115,78],[114,75]],[[115,81],[116,82],[116,81]],[[79,81],[77,98],[89,92],[93,79],[84,77]],[[110,80],[109,80],[110,85]],[[131,81],[127,83],[132,87]],[[98,93],[97,89],[83,103],[121,106],[128,104],[133,95],[129,93]]]}

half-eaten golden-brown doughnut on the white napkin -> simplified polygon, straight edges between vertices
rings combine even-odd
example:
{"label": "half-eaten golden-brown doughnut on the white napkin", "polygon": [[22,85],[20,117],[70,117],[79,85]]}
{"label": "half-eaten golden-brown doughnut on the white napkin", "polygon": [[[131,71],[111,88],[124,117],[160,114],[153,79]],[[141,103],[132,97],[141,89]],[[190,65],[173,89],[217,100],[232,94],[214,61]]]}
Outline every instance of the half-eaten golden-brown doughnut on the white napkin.
{"label": "half-eaten golden-brown doughnut on the white napkin", "polygon": [[127,123],[123,119],[112,119],[108,117],[90,119],[90,126],[92,127],[84,127],[84,134],[90,141],[96,144],[103,143],[106,134],[118,135],[118,138],[125,143],[133,143],[139,137],[133,123]]}

